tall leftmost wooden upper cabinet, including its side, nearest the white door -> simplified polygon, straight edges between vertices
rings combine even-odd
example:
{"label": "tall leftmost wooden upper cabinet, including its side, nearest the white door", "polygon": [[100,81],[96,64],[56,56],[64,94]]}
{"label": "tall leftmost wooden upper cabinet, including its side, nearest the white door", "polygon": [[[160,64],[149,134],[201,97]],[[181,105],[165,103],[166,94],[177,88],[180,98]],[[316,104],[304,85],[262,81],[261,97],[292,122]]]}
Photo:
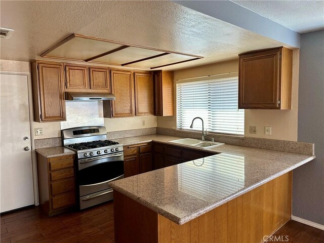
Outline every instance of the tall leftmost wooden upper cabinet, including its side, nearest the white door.
{"label": "tall leftmost wooden upper cabinet, including its side, nearest the white door", "polygon": [[63,63],[31,63],[34,119],[37,122],[65,120]]}

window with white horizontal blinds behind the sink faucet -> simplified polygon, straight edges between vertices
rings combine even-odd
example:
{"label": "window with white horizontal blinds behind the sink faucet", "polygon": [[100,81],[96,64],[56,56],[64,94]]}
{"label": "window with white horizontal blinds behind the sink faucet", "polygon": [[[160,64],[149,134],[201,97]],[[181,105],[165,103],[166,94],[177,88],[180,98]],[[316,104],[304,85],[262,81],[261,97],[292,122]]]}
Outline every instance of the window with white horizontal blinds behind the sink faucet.
{"label": "window with white horizontal blinds behind the sink faucet", "polygon": [[[244,135],[244,109],[237,102],[237,77],[177,84],[177,128],[190,129],[200,116],[210,132]],[[201,121],[193,128],[201,130]]]}

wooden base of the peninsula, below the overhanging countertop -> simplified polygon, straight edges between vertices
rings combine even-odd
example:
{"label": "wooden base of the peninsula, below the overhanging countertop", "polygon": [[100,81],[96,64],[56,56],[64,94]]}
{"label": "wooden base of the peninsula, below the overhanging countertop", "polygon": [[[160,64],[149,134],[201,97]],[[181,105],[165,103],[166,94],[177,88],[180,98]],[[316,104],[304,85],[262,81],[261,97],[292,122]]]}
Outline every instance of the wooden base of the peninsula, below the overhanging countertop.
{"label": "wooden base of the peninsula, below the overhanging countertop", "polygon": [[116,243],[254,243],[264,241],[290,220],[292,172],[182,225],[124,194],[113,193]]}

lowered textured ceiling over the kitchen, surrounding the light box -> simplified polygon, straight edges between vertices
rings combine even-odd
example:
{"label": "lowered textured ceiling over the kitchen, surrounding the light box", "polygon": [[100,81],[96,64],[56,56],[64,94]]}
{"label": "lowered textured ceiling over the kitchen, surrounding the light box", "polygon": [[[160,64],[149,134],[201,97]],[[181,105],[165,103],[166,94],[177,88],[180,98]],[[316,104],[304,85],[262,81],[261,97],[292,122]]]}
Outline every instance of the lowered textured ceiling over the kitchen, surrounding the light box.
{"label": "lowered textured ceiling over the kitchen, surrounding the light box", "polygon": [[165,70],[284,44],[169,1],[1,1],[1,59],[30,61],[71,33],[204,56]]}

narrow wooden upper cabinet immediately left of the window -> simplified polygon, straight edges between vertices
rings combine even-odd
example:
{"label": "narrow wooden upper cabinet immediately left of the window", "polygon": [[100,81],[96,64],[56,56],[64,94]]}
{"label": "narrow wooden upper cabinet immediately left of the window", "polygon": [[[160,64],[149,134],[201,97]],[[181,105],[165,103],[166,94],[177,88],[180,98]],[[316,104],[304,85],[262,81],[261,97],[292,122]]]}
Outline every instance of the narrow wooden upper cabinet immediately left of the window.
{"label": "narrow wooden upper cabinet immediately left of the window", "polygon": [[154,114],[173,115],[173,72],[154,72]]}

